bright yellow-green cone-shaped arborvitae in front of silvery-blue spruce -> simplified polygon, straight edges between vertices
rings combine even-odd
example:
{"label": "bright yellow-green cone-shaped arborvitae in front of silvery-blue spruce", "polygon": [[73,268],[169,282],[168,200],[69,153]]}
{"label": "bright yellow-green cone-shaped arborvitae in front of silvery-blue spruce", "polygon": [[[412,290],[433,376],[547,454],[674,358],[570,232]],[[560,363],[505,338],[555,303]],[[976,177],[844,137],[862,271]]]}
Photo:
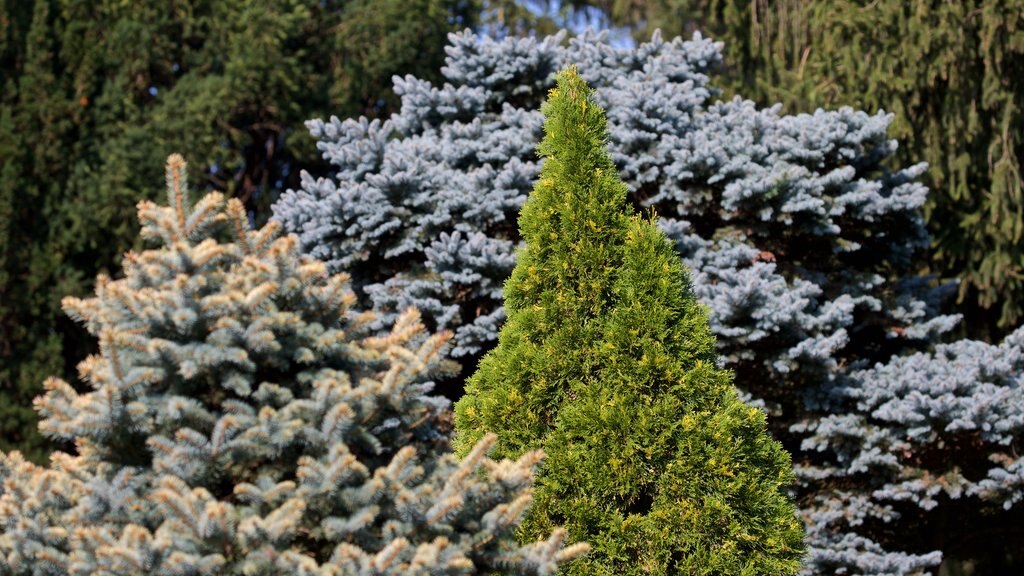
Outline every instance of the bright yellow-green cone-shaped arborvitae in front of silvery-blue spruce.
{"label": "bright yellow-green cone-shaped arborvitae in front of silvery-blue spruce", "polygon": [[520,536],[589,542],[564,574],[796,574],[790,457],[716,366],[672,243],[631,214],[593,90],[569,68],[543,111],[508,321],[456,406],[457,450],[496,433],[496,456],[548,454]]}

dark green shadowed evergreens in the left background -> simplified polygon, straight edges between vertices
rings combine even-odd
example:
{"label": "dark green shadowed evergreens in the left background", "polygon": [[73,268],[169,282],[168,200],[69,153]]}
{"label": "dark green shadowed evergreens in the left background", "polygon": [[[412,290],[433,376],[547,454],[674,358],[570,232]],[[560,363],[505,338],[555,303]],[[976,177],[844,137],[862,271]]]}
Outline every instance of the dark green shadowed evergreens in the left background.
{"label": "dark green shadowed evergreens in the left background", "polygon": [[[475,0],[0,0],[0,450],[41,460],[31,400],[91,344],[59,314],[137,236],[170,152],[257,222],[301,168],[303,127],[378,116],[394,74],[438,77]],[[415,39],[415,41],[411,40]]]}

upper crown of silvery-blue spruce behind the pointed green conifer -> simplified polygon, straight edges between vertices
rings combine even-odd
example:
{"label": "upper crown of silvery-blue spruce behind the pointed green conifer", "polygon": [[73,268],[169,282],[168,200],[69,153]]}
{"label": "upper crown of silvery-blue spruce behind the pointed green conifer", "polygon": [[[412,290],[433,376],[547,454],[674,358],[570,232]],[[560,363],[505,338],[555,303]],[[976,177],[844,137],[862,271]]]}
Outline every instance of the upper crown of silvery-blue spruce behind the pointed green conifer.
{"label": "upper crown of silvery-blue spruce behind the pointed green conifer", "polygon": [[[702,295],[729,340],[728,360],[754,354],[778,373],[829,368],[853,337],[858,310],[885,308],[890,318],[873,324],[915,325],[928,335],[918,321],[933,320],[932,296],[900,291],[879,274],[905,268],[928,241],[918,212],[927,191],[914,181],[924,165],[882,168],[896,146],[885,135],[889,116],[847,109],[785,117],[739,99],[712,104],[708,73],[721,47],[699,36],[655,36],[636,49],[614,48],[600,34],[567,45],[564,35],[499,42],[462,34],[452,42],[450,83],[396,78],[401,112],[389,120],[310,121],[338,172],[304,175],[274,208],[306,251],[352,270],[378,312],[417,304],[455,329],[456,356],[494,341],[515,215],[539,170],[537,109],[553,73],[574,63],[599,88],[613,158],[636,203],[657,209],[687,262],[715,285]],[[862,230],[883,225],[893,234]],[[773,234],[783,227],[792,234]],[[783,260],[794,247],[798,257]],[[800,260],[808,248],[819,253]],[[867,265],[846,265],[865,254]],[[890,315],[873,295],[880,288],[906,304]],[[772,354],[751,351],[766,339]]]}

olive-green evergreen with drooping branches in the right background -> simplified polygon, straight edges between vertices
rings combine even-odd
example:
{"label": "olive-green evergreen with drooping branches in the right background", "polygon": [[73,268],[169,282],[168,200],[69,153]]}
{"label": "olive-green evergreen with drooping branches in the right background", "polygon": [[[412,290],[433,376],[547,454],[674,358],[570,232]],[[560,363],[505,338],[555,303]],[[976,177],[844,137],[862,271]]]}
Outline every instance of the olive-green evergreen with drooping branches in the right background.
{"label": "olive-green evergreen with drooping branches in the right background", "polygon": [[1024,3],[1019,0],[569,0],[638,39],[725,42],[725,95],[786,112],[895,114],[899,165],[927,161],[931,270],[959,278],[964,329],[1024,318]]}

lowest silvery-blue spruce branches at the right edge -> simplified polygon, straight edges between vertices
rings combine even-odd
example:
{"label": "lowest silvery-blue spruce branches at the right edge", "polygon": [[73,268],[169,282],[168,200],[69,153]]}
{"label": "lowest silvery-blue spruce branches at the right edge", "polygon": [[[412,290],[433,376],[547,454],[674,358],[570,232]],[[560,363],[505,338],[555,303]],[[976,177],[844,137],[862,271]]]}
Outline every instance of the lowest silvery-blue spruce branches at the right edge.
{"label": "lowest silvery-blue spruce branches at the right edge", "polygon": [[[990,537],[983,523],[1015,525],[1024,498],[1024,328],[999,345],[939,344],[839,380],[834,413],[797,426],[808,434],[803,450],[830,455],[797,466],[805,481],[828,487],[807,512],[809,537],[825,543],[811,550],[813,564],[858,574],[913,574],[938,564],[939,551],[885,552],[856,532],[940,506],[968,525],[964,538]],[[836,488],[844,486],[861,490]]]}

